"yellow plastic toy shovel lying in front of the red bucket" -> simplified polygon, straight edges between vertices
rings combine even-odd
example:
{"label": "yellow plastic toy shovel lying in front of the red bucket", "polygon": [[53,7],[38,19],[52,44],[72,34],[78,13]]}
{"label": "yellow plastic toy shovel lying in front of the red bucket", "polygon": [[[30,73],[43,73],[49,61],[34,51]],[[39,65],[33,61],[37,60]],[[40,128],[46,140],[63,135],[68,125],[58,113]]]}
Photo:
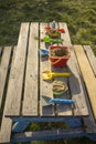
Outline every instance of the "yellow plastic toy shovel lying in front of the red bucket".
{"label": "yellow plastic toy shovel lying in front of the red bucket", "polygon": [[54,72],[51,72],[51,71],[44,71],[43,72],[43,80],[52,80],[53,78],[55,76],[70,76],[71,74],[70,73],[54,73]]}

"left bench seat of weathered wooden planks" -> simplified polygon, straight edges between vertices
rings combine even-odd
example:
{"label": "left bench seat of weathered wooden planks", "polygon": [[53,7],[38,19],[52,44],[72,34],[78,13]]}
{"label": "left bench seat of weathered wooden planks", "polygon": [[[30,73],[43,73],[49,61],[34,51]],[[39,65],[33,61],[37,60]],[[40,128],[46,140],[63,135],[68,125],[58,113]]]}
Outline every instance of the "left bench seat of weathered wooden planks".
{"label": "left bench seat of weathered wooden planks", "polygon": [[0,55],[0,143],[10,143],[12,120],[6,117],[7,90],[17,47],[2,48]]}

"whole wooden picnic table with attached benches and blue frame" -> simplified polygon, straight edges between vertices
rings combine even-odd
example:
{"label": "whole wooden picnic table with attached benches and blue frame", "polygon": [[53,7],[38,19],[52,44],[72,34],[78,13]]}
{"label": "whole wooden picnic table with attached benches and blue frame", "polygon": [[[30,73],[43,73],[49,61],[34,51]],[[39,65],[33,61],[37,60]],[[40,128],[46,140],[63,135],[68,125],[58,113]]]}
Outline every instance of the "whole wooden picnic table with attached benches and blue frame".
{"label": "whole wooden picnic table with attached benches and blue frame", "polygon": [[[28,136],[22,134],[11,135],[11,131],[13,133],[23,132],[31,122],[65,122],[71,127],[84,126],[84,130],[77,130],[76,134],[85,135],[86,130],[86,133],[96,133],[95,128],[89,127],[90,131],[88,128],[88,124],[92,123],[96,127],[96,58],[90,47],[73,45],[66,23],[58,22],[56,27],[65,29],[65,32],[61,34],[61,39],[63,39],[63,45],[70,47],[71,58],[65,68],[53,68],[47,56],[40,55],[41,48],[47,49],[46,43],[41,39],[46,35],[45,27],[49,24],[52,23],[22,23],[18,45],[9,49],[4,48],[3,53],[0,49],[0,53],[2,53],[0,63],[0,107],[3,103],[3,90],[8,72],[4,69],[10,66],[0,133],[3,143],[10,141],[10,136],[12,136],[11,142],[19,142],[20,136],[22,141],[32,140],[32,133],[29,133]],[[9,64],[8,59],[11,64]],[[42,72],[45,70],[70,72],[71,76],[54,78],[54,80],[47,82],[42,76]],[[75,104],[43,106],[43,96],[53,99],[52,83],[55,80],[66,82],[68,86],[67,93],[61,99],[74,100]],[[72,134],[73,131],[71,130],[70,133]],[[46,134],[49,135],[51,132]],[[64,137],[64,132],[61,132],[60,137]],[[40,133],[36,134],[36,136],[39,135]],[[56,137],[57,133],[54,132],[54,135]],[[44,136],[42,136],[43,138]],[[51,135],[49,138],[51,138]],[[39,137],[35,140],[39,140]]]}

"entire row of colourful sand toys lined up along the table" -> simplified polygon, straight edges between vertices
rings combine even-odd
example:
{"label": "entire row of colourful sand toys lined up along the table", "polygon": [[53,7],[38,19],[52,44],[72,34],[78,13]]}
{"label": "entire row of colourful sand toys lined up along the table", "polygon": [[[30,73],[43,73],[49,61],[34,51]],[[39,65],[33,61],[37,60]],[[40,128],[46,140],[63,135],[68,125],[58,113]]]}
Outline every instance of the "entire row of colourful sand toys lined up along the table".
{"label": "entire row of colourful sand toys lined up along the table", "polygon": [[[54,68],[64,68],[66,65],[67,60],[71,56],[70,48],[63,45],[63,40],[61,39],[61,33],[65,33],[64,29],[57,29],[56,22],[52,22],[52,27],[45,27],[45,34],[42,39],[45,44],[49,45],[47,49],[40,49],[40,53],[42,56],[49,56],[51,61],[51,65]],[[68,72],[52,72],[51,70],[46,70],[42,73],[44,81],[53,80],[56,76],[70,76]],[[62,103],[62,104],[74,104],[74,100],[68,99],[60,99],[67,90],[68,86],[65,82],[62,81],[53,81],[52,90],[54,97],[49,100],[45,105],[53,103]]]}

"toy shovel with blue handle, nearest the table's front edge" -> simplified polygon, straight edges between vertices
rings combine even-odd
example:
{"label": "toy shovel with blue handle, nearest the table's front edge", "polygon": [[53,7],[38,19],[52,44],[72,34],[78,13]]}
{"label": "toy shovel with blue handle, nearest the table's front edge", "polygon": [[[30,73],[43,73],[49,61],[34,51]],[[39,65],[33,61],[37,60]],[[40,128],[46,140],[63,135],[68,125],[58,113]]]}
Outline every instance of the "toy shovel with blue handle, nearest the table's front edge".
{"label": "toy shovel with blue handle, nearest the table's front edge", "polygon": [[43,97],[43,101],[42,101],[43,106],[47,106],[54,103],[57,103],[57,104],[74,104],[75,103],[74,100],[68,100],[68,99],[51,99],[47,96],[42,96],[42,97]]}

